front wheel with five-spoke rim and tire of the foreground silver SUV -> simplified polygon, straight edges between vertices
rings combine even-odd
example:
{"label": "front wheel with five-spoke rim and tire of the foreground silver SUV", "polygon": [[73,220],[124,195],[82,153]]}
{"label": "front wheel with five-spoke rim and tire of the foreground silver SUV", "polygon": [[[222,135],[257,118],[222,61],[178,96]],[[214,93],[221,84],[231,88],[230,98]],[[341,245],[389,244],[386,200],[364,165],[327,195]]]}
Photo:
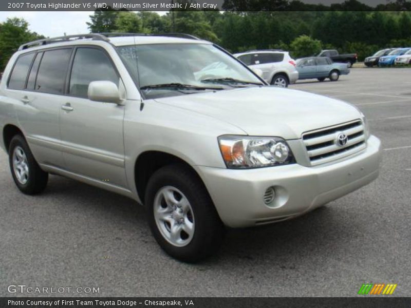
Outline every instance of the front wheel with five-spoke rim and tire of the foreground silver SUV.
{"label": "front wheel with five-spoke rim and tire of the foreground silver SUV", "polygon": [[157,170],[148,181],[145,203],[152,233],[172,257],[196,262],[220,246],[223,224],[208,191],[190,168],[176,164]]}

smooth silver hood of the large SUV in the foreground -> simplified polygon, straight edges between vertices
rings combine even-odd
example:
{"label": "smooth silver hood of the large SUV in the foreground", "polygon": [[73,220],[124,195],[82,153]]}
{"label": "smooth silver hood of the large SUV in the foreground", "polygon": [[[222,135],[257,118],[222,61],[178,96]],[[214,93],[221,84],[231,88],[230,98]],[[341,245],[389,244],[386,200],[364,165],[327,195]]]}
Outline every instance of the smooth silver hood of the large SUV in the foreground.
{"label": "smooth silver hood of the large SUV in the foreground", "polygon": [[208,115],[235,125],[251,136],[285,139],[300,139],[305,131],[361,118],[356,107],[342,101],[270,86],[187,94],[156,101]]}

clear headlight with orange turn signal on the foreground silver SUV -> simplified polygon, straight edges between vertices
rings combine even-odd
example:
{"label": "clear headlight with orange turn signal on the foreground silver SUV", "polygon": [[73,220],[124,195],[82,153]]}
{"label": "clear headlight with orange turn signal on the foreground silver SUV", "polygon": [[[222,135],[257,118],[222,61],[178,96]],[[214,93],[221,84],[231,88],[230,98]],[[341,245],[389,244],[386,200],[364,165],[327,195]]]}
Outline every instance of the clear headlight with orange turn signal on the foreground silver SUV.
{"label": "clear headlight with orange turn signal on the foreground silver SUV", "polygon": [[278,137],[218,137],[228,168],[260,168],[295,163],[287,142]]}

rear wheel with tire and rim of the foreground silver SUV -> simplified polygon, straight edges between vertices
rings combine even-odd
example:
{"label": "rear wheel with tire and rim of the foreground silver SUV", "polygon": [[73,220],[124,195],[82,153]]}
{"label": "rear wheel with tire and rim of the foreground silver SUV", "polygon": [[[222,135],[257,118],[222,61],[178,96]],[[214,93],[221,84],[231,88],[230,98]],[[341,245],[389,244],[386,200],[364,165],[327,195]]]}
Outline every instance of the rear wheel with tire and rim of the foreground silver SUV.
{"label": "rear wheel with tire and rim of the foreground silver SUV", "polygon": [[20,134],[11,139],[9,164],[14,183],[24,194],[39,194],[46,188],[48,173],[40,168]]}

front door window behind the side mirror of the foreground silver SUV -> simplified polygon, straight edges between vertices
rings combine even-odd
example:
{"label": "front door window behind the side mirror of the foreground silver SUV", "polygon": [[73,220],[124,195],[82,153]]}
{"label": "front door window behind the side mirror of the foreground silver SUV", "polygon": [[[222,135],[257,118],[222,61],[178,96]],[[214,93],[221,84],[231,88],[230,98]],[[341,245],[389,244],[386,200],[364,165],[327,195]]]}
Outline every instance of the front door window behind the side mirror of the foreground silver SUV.
{"label": "front door window behind the side mirror of the foreground silver SUV", "polygon": [[69,93],[87,98],[88,84],[99,80],[119,84],[119,76],[108,56],[96,48],[77,49],[71,69]]}

